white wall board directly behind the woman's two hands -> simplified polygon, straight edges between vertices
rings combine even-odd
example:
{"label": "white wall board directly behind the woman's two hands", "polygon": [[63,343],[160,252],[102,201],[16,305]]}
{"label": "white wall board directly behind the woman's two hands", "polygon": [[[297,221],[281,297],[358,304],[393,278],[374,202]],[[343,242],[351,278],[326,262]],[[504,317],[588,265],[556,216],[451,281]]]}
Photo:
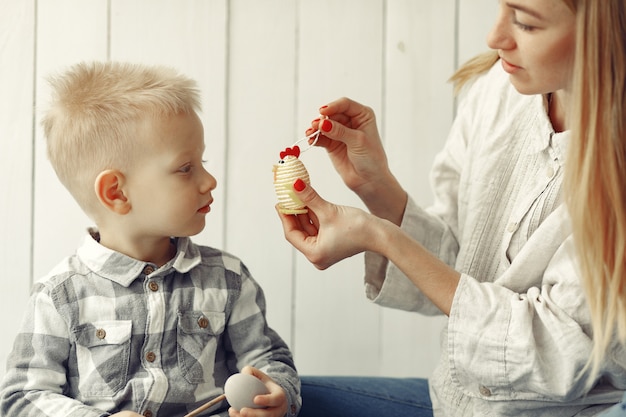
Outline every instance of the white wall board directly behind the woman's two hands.
{"label": "white wall board directly behind the woman's two hands", "polygon": [[[320,106],[342,96],[382,107],[384,8],[380,0],[300,2],[298,133]],[[362,207],[322,149],[301,156],[326,199]],[[297,255],[296,342],[303,374],[378,373],[380,309],[363,290],[362,255],[320,272]]]}

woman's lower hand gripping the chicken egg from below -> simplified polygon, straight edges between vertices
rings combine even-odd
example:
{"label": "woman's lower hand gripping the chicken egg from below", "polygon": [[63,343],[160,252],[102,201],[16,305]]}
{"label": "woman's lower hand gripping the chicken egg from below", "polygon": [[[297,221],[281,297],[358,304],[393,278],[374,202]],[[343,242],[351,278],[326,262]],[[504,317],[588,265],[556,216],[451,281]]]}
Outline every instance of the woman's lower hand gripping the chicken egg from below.
{"label": "woman's lower hand gripping the chicken egg from below", "polygon": [[320,197],[304,181],[294,184],[307,214],[281,214],[285,238],[318,269],[365,250],[376,250],[373,228],[381,220],[363,210],[338,206]]}

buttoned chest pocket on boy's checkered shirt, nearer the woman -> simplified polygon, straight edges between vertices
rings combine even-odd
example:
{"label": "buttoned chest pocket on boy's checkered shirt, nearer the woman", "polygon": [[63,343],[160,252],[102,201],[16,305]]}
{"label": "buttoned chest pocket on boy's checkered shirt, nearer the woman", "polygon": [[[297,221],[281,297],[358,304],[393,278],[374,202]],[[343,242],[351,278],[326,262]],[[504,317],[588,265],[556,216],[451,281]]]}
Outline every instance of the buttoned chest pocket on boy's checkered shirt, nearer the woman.
{"label": "buttoned chest pocket on boy's checkered shirt, nearer the woman", "polygon": [[206,382],[205,369],[212,377],[219,336],[224,332],[225,323],[224,312],[178,312],[178,366],[190,384]]}

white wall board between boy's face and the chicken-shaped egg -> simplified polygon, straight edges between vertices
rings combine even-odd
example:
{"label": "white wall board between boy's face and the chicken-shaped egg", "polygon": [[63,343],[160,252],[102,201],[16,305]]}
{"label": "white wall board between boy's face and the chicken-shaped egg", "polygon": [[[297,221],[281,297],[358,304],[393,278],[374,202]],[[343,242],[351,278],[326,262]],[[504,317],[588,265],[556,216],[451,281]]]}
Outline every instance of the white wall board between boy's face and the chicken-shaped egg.
{"label": "white wall board between boy's face and the chicken-shaped egg", "polygon": [[292,258],[274,205],[272,166],[294,138],[293,0],[230,1],[227,250],[265,290],[268,320],[292,344]]}

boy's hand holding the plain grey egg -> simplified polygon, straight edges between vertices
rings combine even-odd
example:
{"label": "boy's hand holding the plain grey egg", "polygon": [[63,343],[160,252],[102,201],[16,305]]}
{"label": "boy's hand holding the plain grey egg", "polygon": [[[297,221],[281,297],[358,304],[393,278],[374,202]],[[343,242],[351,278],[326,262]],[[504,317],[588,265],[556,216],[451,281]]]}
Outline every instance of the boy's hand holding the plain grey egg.
{"label": "boy's hand holding the plain grey egg", "polygon": [[284,417],[287,414],[287,395],[280,385],[252,366],[245,366],[241,373],[259,378],[270,393],[254,397],[254,403],[265,408],[242,408],[237,411],[231,407],[228,409],[230,417]]}

